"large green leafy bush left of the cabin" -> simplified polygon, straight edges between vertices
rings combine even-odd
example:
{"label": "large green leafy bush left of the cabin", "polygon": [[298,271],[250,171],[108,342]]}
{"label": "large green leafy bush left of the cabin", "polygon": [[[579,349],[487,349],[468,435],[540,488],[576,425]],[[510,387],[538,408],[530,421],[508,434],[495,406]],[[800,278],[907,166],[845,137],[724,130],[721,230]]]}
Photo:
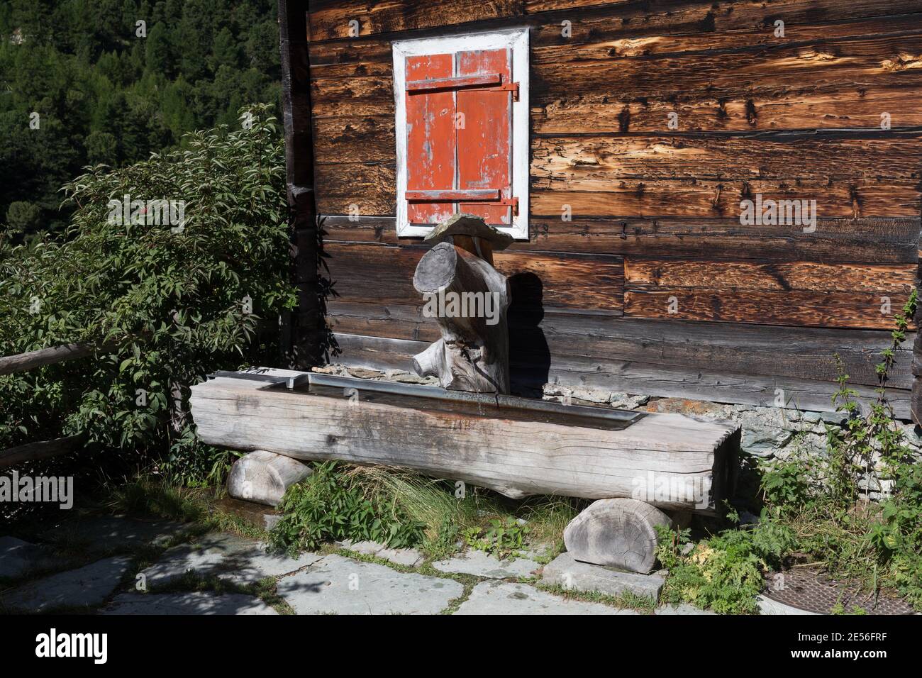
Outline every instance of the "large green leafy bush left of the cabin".
{"label": "large green leafy bush left of the cabin", "polygon": [[[60,240],[0,235],[0,354],[96,347],[0,376],[0,446],[82,433],[123,450],[172,440],[215,461],[182,429],[189,386],[274,360],[278,315],[295,303],[282,141],[267,106],[244,114],[245,128],[195,133],[183,152],[89,168],[65,185],[76,210]],[[109,203],[123,196],[183,201],[184,221],[119,223]]]}

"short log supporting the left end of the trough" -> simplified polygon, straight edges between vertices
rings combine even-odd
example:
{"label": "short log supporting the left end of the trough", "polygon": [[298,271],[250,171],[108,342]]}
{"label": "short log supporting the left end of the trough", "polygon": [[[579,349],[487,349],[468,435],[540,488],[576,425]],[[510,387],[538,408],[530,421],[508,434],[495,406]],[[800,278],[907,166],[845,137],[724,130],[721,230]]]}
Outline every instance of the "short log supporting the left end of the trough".
{"label": "short log supporting the left end of the trough", "polygon": [[311,475],[307,464],[274,452],[256,450],[237,459],[228,475],[228,494],[267,506],[278,506],[285,491]]}

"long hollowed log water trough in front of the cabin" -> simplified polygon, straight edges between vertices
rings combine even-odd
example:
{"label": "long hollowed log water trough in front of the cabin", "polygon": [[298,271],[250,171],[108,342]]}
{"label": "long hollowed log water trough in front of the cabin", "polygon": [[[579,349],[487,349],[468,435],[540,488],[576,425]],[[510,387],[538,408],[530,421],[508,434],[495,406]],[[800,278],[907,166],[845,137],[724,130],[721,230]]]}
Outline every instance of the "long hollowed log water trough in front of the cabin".
{"label": "long hollowed log water trough in front of the cabin", "polygon": [[712,514],[739,452],[729,422],[289,370],[214,375],[192,388],[192,416],[213,446]]}

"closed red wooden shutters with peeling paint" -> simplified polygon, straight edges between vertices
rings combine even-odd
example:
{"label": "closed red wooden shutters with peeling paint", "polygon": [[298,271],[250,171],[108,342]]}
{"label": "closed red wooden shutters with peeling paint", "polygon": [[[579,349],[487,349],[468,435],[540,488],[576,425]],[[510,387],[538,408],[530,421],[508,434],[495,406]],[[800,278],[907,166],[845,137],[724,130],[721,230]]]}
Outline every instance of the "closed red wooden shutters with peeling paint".
{"label": "closed red wooden shutters with peeling paint", "polygon": [[512,224],[511,78],[508,49],[408,57],[410,223],[464,211]]}

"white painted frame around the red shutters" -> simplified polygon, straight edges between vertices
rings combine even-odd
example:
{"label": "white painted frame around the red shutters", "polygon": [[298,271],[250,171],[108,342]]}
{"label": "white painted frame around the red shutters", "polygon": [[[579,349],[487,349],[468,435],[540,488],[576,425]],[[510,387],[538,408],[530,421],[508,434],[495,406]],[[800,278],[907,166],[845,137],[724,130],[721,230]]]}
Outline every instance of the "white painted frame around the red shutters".
{"label": "white painted frame around the red shutters", "polygon": [[431,226],[411,225],[407,216],[407,57],[428,54],[454,54],[471,50],[509,48],[513,55],[513,82],[519,84],[519,99],[513,101],[512,136],[512,196],[517,197],[518,214],[501,231],[516,240],[528,239],[528,29],[497,30],[442,38],[401,40],[392,43],[394,49],[394,101],[396,103],[397,143],[397,235],[422,236]]}

